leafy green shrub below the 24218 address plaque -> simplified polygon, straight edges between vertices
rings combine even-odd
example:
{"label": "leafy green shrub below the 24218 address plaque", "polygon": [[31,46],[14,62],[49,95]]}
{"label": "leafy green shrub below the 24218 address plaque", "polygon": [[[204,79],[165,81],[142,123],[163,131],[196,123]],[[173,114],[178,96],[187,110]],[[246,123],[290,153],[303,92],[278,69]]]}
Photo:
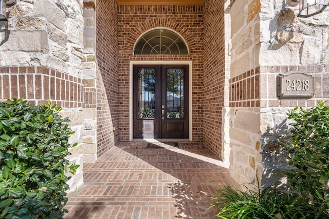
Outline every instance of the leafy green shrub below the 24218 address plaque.
{"label": "leafy green shrub below the 24218 address plaque", "polygon": [[285,172],[288,182],[325,211],[329,209],[329,107],[318,102],[317,107],[296,107],[287,115],[295,121],[290,124],[291,143],[284,144],[289,164],[295,167]]}

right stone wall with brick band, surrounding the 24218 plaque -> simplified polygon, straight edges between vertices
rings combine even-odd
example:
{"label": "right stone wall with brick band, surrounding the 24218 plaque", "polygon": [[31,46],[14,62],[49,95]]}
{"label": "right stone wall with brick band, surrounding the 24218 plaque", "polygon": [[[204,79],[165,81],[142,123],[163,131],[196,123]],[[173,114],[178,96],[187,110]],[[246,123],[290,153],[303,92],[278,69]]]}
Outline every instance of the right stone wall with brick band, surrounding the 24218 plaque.
{"label": "right stone wall with brick band, surrounding the 24218 plaque", "polygon": [[[286,112],[328,99],[328,9],[311,18],[282,1],[236,1],[231,7],[230,177],[236,187],[255,183],[284,185],[289,169],[278,139],[288,140]],[[279,99],[276,77],[300,71],[315,77],[315,96]]]}

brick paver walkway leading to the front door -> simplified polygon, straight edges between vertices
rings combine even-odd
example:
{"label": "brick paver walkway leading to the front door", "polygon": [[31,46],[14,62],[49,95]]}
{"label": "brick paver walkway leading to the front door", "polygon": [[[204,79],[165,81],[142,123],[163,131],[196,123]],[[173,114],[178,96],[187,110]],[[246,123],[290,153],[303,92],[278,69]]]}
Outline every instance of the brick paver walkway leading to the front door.
{"label": "brick paver walkway leading to the front door", "polygon": [[120,143],[84,165],[84,186],[69,198],[65,218],[213,218],[215,190],[227,185],[227,166],[202,144],[179,149]]}

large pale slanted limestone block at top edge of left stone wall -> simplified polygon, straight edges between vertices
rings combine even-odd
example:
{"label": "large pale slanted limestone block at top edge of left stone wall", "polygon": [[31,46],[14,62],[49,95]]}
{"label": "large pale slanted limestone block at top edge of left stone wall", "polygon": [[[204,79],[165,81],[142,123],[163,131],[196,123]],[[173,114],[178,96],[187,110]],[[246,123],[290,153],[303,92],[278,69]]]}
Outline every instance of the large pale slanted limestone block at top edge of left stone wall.
{"label": "large pale slanted limestone block at top edge of left stone wall", "polygon": [[[50,13],[51,12],[51,13]],[[42,16],[59,29],[65,31],[66,14],[50,0],[36,0],[34,16]]]}

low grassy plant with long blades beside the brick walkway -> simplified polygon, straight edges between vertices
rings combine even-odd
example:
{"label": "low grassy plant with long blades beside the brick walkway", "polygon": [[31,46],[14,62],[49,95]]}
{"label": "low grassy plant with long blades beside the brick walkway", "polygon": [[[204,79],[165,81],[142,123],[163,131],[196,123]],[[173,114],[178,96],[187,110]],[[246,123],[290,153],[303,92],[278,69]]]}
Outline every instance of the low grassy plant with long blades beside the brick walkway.
{"label": "low grassy plant with long blades beside the brick walkway", "polygon": [[318,214],[316,206],[302,196],[273,187],[261,190],[258,186],[255,191],[247,187],[246,191],[224,188],[217,191],[213,200],[218,203],[210,208],[218,207],[219,213],[215,217],[223,219],[308,219],[316,218]]}

